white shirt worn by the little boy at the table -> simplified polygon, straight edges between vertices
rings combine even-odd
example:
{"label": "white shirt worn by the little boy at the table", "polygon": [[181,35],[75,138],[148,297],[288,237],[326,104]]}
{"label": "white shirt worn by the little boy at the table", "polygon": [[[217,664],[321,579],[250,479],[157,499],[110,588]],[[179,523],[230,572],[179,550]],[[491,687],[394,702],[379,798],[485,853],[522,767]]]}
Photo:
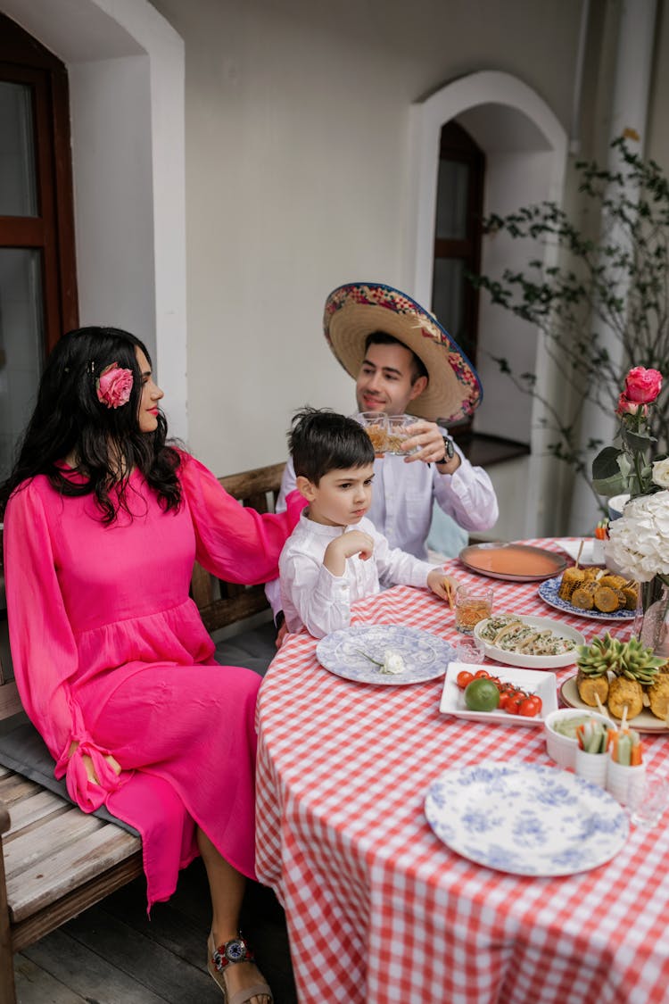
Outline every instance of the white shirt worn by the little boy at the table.
{"label": "white shirt worn by the little boy at the table", "polygon": [[[349,530],[362,530],[374,541],[366,561],[359,555],[346,559],[343,575],[333,575],[323,564],[328,544]],[[348,628],[351,604],[380,592],[379,576],[395,585],[425,586],[434,565],[412,554],[391,548],[374,524],[363,517],[355,526],[324,526],[309,519],[304,510],[279,558],[282,608],[289,632],[304,624],[314,638]]]}

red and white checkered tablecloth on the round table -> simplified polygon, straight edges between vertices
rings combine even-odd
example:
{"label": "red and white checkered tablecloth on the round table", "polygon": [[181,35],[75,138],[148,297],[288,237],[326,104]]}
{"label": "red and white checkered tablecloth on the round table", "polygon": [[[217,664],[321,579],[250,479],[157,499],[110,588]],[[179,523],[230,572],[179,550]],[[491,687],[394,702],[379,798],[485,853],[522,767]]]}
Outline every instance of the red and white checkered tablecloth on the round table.
{"label": "red and white checkered tablecloth on the round table", "polygon": [[[556,541],[529,543],[559,550]],[[480,582],[457,561],[447,567]],[[554,615],[587,638],[602,633],[599,621],[552,611],[537,582],[490,584],[497,610]],[[407,586],[360,602],[352,622],[458,637],[441,600]],[[342,680],[319,665],[315,648],[307,635],[289,639],[258,712],[257,868],[286,910],[302,1004],[669,1001],[669,816],[654,830],[632,827],[611,861],[581,874],[536,878],[476,865],[433,834],[425,792],[449,767],[552,765],[542,729],[442,715],[441,680]],[[645,740],[653,770],[667,740]]]}

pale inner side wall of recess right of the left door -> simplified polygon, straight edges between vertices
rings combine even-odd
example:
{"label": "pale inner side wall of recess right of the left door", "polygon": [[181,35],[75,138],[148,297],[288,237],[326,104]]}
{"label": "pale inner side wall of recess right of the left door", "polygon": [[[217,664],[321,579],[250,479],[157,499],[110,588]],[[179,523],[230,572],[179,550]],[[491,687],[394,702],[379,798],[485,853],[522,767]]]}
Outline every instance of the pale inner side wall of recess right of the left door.
{"label": "pale inner side wall of recess right of the left door", "polygon": [[71,63],[69,85],[79,321],[133,331],[155,358],[148,73],[146,55]]}

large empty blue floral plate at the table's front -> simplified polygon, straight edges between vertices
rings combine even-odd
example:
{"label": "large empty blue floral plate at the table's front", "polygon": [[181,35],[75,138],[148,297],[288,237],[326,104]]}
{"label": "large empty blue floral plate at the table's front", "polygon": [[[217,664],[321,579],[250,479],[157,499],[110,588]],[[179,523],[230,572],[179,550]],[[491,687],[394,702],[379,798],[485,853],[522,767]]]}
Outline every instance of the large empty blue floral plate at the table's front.
{"label": "large empty blue floral plate at the table's front", "polygon": [[488,763],[446,770],[427,821],[463,857],[519,875],[569,875],[610,860],[629,820],[598,784],[555,767]]}

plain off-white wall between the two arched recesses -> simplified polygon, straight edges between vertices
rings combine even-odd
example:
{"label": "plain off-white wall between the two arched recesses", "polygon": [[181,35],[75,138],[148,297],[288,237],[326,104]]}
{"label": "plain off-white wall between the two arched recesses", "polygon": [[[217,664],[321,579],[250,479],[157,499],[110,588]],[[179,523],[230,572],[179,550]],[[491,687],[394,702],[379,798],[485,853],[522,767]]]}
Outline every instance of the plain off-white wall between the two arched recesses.
{"label": "plain off-white wall between the two arched recesses", "polygon": [[285,456],[293,409],[353,407],[330,290],[410,290],[411,103],[492,67],[568,116],[580,3],[155,6],[186,45],[191,443],[240,470]]}

